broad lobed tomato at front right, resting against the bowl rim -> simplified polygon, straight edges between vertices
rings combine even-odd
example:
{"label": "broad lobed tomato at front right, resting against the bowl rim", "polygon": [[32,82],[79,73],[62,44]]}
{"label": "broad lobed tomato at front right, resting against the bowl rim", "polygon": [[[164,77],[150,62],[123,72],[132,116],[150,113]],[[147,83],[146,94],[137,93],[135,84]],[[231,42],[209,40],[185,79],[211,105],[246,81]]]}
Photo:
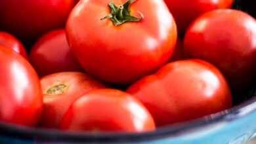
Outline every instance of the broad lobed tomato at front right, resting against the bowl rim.
{"label": "broad lobed tomato at front right, resting against the bowl rim", "polygon": [[142,101],[158,126],[203,117],[232,106],[223,75],[202,60],[169,63],[158,73],[133,84],[127,92]]}

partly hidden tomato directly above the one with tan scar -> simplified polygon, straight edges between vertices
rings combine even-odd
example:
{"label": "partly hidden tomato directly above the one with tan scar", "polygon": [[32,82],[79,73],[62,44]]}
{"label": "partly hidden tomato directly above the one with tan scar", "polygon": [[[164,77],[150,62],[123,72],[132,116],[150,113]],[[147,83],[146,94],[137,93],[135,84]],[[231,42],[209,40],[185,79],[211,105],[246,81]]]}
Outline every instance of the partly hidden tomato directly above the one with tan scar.
{"label": "partly hidden tomato directly above the one with tan scar", "polygon": [[32,47],[30,60],[40,75],[61,71],[81,71],[63,29],[49,32]]}

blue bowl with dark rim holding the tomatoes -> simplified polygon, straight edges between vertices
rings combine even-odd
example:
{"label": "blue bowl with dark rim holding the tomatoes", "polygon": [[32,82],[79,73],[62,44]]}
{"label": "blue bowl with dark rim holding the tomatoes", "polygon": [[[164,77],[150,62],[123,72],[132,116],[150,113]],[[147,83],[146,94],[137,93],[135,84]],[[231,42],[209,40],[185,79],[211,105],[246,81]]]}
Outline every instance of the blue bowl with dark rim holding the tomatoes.
{"label": "blue bowl with dark rim holding the tomatoes", "polygon": [[[235,9],[255,16],[253,2],[236,1]],[[256,16],[255,16],[256,17]],[[256,88],[247,98],[236,96],[232,109],[207,117],[159,128],[143,134],[89,134],[60,132],[14,126],[0,122],[2,144],[71,144],[71,143],[148,143],[148,144],[244,144],[256,136]]]}

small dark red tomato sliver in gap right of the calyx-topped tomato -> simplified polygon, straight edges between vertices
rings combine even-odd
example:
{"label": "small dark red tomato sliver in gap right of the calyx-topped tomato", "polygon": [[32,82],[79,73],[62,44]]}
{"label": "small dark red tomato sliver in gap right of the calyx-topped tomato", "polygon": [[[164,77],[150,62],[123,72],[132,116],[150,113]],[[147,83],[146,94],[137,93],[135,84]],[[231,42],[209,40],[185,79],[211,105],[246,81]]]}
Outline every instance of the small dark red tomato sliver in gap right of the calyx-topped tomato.
{"label": "small dark red tomato sliver in gap right of the calyx-topped tomato", "polygon": [[170,62],[174,62],[177,60],[183,60],[183,59],[184,59],[183,43],[182,43],[181,39],[177,39],[175,50],[173,52],[173,56],[171,56]]}

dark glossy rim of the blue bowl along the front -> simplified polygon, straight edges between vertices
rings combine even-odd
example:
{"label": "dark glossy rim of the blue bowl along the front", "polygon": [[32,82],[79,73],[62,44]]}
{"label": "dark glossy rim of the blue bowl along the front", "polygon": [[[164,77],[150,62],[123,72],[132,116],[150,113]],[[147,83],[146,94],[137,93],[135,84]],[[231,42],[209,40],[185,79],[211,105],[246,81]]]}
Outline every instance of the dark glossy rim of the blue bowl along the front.
{"label": "dark glossy rim of the blue bowl along the front", "polygon": [[237,120],[239,118],[256,112],[256,94],[252,98],[244,101],[225,111],[207,115],[196,120],[181,122],[170,126],[163,126],[154,132],[144,132],[139,134],[102,132],[100,134],[86,132],[62,132],[60,130],[49,130],[43,128],[29,128],[27,126],[17,126],[0,122],[0,137],[15,137],[16,139],[33,139],[35,141],[71,141],[71,142],[143,142],[166,137],[175,137],[186,132],[199,130],[205,126],[219,124],[220,122]]}

